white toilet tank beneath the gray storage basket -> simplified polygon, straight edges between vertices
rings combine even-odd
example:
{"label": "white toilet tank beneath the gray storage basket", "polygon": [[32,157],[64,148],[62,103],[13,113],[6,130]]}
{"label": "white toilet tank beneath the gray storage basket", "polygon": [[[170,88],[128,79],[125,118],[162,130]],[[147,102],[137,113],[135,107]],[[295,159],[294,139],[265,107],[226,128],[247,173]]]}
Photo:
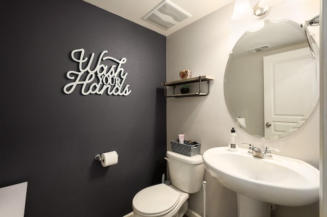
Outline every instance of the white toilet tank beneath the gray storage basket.
{"label": "white toilet tank beneath the gray storage basket", "polygon": [[202,187],[204,164],[202,155],[189,157],[167,151],[171,183],[186,193],[196,193]]}

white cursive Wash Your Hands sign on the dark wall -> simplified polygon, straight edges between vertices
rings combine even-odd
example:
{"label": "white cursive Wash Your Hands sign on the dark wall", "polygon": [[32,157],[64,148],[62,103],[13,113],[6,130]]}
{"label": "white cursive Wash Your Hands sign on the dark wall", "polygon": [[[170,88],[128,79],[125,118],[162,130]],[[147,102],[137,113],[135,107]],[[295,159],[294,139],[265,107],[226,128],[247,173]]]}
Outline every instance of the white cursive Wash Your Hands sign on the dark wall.
{"label": "white cursive Wash Your Hands sign on the dark wall", "polygon": [[[124,72],[122,65],[126,63],[126,58],[117,60],[112,57],[104,57],[108,52],[104,50],[94,69],[91,69],[94,53],[92,53],[87,62],[88,58],[84,57],[84,52],[83,48],[72,51],[72,59],[79,64],[79,71],[67,72],[67,78],[74,80],[74,82],[65,85],[63,91],[66,94],[72,93],[78,85],[81,85],[81,93],[83,95],[102,95],[106,92],[108,95],[127,96],[131,93],[131,90],[128,90],[129,85],[124,87],[124,82],[128,73]],[[105,65],[104,62],[106,60],[110,60],[116,65]]]}

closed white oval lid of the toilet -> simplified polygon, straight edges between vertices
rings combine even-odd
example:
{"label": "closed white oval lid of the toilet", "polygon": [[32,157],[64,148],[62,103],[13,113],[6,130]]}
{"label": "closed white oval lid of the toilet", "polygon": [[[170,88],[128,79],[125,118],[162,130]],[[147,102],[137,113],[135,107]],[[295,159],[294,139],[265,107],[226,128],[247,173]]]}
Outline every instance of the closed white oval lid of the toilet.
{"label": "closed white oval lid of the toilet", "polygon": [[180,194],[166,184],[146,187],[133,198],[133,207],[145,214],[156,214],[174,208],[180,200]]}

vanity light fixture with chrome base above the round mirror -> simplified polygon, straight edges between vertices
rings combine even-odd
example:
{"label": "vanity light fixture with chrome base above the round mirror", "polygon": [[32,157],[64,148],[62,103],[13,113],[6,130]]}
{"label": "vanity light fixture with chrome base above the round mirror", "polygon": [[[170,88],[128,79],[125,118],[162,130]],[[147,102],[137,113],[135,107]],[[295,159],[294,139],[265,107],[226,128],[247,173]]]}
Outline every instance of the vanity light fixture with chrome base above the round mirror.
{"label": "vanity light fixture with chrome base above the round mirror", "polygon": [[269,14],[273,6],[282,1],[284,0],[261,0],[255,4],[253,9],[251,9],[249,0],[235,0],[234,11],[231,19],[241,20],[247,18],[251,14],[256,19],[262,19]]}

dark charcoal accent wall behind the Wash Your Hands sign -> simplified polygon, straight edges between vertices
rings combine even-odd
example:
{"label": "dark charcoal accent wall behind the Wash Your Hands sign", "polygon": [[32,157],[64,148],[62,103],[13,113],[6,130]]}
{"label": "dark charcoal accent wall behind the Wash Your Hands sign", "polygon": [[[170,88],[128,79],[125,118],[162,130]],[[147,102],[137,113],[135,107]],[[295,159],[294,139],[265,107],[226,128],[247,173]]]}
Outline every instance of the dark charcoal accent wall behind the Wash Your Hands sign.
{"label": "dark charcoal accent wall behind the Wash Your Hands sign", "polygon": [[[166,37],[81,0],[0,8],[0,187],[28,181],[27,217],[131,212],[166,172]],[[132,92],[65,94],[79,48],[125,57]],[[117,165],[94,159],[113,150]]]}

